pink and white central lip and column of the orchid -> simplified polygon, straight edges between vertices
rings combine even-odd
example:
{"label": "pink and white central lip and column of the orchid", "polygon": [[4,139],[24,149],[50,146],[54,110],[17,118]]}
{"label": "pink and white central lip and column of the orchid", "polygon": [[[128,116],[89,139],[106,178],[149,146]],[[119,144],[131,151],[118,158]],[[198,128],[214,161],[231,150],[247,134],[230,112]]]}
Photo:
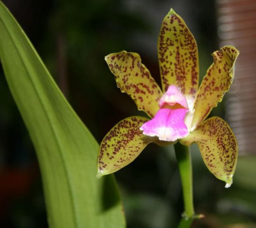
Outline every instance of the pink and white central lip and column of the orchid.
{"label": "pink and white central lip and column of the orchid", "polygon": [[160,109],[153,119],[140,130],[144,135],[157,136],[159,140],[176,141],[189,135],[194,116],[193,103],[179,89],[171,85],[159,101]]}

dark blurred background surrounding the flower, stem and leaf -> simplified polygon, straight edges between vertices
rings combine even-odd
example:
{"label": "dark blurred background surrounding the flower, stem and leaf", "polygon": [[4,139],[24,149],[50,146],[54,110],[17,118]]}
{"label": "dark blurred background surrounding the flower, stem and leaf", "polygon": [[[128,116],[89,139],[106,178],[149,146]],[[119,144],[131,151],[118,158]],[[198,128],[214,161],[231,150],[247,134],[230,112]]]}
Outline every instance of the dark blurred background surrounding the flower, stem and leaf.
{"label": "dark blurred background surrounding the flower, stem and leaf", "polygon": [[[256,227],[256,2],[254,0],[3,0],[20,23],[73,109],[100,143],[120,120],[144,115],[116,87],[104,56],[140,54],[160,84],[157,39],[172,7],[199,49],[200,80],[220,45],[240,50],[234,88],[213,109],[230,123],[241,152],[234,184],[216,179],[191,148],[199,228]],[[17,75],[18,77],[18,75]],[[95,161],[96,165],[96,161]],[[183,212],[173,147],[149,145],[116,173],[128,228],[176,227]],[[44,228],[40,170],[28,132],[0,70],[0,227]]]}

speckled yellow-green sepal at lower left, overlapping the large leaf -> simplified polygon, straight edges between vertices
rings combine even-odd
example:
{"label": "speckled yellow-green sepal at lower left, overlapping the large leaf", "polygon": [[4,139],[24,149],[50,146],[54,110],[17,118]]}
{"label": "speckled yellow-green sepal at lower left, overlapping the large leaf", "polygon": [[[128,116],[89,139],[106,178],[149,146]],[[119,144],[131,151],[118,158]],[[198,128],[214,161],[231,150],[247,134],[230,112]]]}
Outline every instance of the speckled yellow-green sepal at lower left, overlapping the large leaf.
{"label": "speckled yellow-green sepal at lower left, overlapping the large leaf", "polygon": [[173,142],[159,141],[157,137],[143,135],[139,128],[147,121],[149,119],[141,116],[128,117],[107,133],[100,144],[97,177],[125,167],[151,142],[161,146],[173,144]]}

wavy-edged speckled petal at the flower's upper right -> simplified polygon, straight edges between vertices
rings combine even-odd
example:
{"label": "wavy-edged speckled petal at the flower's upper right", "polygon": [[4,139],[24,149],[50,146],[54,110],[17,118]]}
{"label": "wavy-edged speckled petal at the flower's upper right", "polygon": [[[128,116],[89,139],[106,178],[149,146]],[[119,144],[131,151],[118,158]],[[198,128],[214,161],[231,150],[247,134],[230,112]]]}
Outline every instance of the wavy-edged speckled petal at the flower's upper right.
{"label": "wavy-edged speckled petal at the flower's upper right", "polygon": [[213,52],[213,64],[207,70],[199,87],[194,104],[192,126],[196,128],[209,115],[211,109],[221,102],[225,92],[235,76],[235,61],[239,51],[232,46],[225,46]]}

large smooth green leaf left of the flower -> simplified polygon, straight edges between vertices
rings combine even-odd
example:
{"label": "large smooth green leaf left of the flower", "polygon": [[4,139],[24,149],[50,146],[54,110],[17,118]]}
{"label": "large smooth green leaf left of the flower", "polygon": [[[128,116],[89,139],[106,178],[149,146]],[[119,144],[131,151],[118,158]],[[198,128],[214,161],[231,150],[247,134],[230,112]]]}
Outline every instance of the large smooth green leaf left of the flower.
{"label": "large smooth green leaf left of the flower", "polygon": [[98,144],[0,2],[0,59],[33,141],[50,227],[124,227],[112,175],[97,179]]}

